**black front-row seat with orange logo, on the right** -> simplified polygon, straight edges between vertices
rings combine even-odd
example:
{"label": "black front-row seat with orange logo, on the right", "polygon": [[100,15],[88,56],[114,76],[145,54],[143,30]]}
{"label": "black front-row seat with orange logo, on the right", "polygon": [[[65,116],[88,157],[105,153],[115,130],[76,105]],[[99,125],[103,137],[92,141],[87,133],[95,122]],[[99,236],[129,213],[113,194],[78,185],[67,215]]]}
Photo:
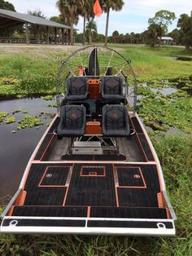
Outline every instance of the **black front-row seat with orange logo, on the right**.
{"label": "black front-row seat with orange logo, on the right", "polygon": [[129,116],[124,105],[105,105],[102,114],[104,136],[127,137],[130,135]]}

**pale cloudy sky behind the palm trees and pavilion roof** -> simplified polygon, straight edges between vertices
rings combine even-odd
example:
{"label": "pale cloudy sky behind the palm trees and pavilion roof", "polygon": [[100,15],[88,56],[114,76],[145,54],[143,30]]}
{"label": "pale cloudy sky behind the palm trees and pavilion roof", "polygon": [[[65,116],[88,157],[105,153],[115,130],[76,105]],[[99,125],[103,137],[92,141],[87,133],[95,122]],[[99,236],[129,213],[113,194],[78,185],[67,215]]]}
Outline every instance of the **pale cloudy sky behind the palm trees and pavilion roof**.
{"label": "pale cloudy sky behind the palm trees and pavilion roof", "polygon": [[[77,0],[78,1],[78,0]],[[17,12],[26,13],[28,10],[40,9],[47,18],[59,15],[56,8],[56,0],[8,0],[15,6]],[[191,0],[124,0],[122,11],[111,11],[109,35],[118,30],[119,33],[142,33],[147,29],[148,19],[155,15],[156,11],[168,10],[175,12],[177,19],[182,13],[190,15],[192,10]],[[106,14],[95,18],[98,25],[98,33],[105,33]],[[169,31],[176,29],[177,20],[168,27]],[[80,18],[76,25],[79,33],[83,30],[83,19]]]}

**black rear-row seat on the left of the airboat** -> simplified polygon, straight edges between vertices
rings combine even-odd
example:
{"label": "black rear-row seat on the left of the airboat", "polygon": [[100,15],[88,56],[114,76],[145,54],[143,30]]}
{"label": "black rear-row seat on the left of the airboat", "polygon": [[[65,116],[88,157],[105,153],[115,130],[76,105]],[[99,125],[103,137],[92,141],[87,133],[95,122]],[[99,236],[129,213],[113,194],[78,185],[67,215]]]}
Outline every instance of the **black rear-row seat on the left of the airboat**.
{"label": "black rear-row seat on the left of the airboat", "polygon": [[88,96],[88,78],[70,77],[68,78],[68,92],[65,95],[67,100],[82,100]]}

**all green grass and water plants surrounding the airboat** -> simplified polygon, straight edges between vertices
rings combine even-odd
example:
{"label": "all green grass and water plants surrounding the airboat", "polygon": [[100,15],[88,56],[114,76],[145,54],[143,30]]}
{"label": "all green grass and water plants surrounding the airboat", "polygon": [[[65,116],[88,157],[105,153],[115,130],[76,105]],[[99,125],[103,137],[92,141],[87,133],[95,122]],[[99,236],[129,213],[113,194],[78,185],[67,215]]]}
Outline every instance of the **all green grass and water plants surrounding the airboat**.
{"label": "all green grass and water plants surrounding the airboat", "polygon": [[[162,88],[162,85],[157,82],[162,78],[184,77],[185,79],[180,79],[180,84],[182,84],[183,79],[186,80],[186,77],[188,79],[192,74],[192,62],[170,59],[170,57],[178,55],[191,56],[181,47],[168,46],[155,50],[151,50],[148,46],[112,45],[112,47],[120,50],[132,60],[139,81],[153,81],[156,88],[159,86]],[[55,77],[59,68],[59,60],[67,55],[67,51],[61,48],[50,50],[31,47],[23,48],[22,52],[19,52],[18,49],[11,49],[9,52],[10,50],[2,48],[0,51],[0,95],[2,97],[8,95],[17,97],[18,95],[33,95],[37,92],[41,94],[43,90],[39,90],[39,86],[42,84],[44,84],[43,89],[46,88],[47,95],[51,95],[48,93],[49,90],[54,91],[51,79]],[[188,89],[191,88],[189,82],[184,83],[184,86],[188,86]],[[188,132],[181,135],[165,135],[160,132],[157,136],[154,131],[149,131],[164,170],[168,196],[177,214],[177,236],[165,238],[2,235],[0,236],[0,255],[188,256],[192,254],[191,97],[184,90],[167,97],[152,93],[151,88],[147,90],[140,88],[140,93],[147,97],[142,99],[138,109],[143,117],[148,117],[146,121],[153,125],[163,121],[165,126],[177,126]],[[51,96],[45,99],[50,98]],[[172,104],[170,104],[171,102]],[[24,110],[15,110],[15,113],[17,111]],[[162,113],[164,114],[162,115]],[[5,120],[7,115],[8,113],[0,113],[0,121]],[[185,118],[186,116],[187,118]],[[34,124],[36,121],[38,120],[34,122],[34,119],[30,119],[27,123]],[[23,120],[20,125],[25,126],[26,120]]]}

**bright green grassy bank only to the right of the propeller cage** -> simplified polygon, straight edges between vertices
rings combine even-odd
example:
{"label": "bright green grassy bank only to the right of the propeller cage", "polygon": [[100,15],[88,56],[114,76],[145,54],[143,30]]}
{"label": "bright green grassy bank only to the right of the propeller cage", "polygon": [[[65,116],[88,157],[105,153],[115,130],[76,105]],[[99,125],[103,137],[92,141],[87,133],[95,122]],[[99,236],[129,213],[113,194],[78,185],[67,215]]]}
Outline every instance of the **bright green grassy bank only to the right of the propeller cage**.
{"label": "bright green grassy bank only to the right of the propeller cage", "polygon": [[192,75],[192,61],[175,60],[180,55],[192,56],[192,52],[186,52],[184,48],[161,46],[153,49],[129,45],[116,45],[116,48],[132,60],[134,71],[141,81]]}

